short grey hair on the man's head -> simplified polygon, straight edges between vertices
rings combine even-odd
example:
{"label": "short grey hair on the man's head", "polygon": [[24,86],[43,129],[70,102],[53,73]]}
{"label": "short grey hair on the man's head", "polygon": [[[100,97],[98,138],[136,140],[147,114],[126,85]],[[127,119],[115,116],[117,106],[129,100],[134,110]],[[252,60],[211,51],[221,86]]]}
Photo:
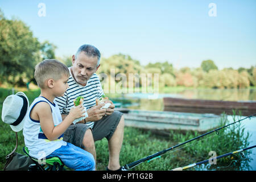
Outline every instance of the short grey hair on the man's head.
{"label": "short grey hair on the man's head", "polygon": [[80,46],[76,52],[75,59],[77,59],[77,57],[80,55],[80,52],[84,52],[87,56],[93,56],[93,57],[97,56],[98,58],[97,67],[98,67],[98,65],[100,64],[101,53],[96,47],[89,44],[84,44]]}

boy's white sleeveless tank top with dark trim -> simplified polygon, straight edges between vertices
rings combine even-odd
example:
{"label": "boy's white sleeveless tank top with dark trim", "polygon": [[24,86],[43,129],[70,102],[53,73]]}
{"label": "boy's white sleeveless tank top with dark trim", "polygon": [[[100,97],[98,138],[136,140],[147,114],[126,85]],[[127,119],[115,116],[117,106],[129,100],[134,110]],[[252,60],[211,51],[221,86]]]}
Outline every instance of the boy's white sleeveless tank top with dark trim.
{"label": "boy's white sleeveless tank top with dark trim", "polygon": [[40,121],[30,117],[31,110],[39,102],[47,102],[51,106],[55,126],[62,122],[62,118],[55,100],[52,103],[45,97],[37,97],[30,105],[23,127],[24,142],[30,152],[30,156],[36,159],[43,159],[61,146],[67,145],[67,142],[63,141],[63,134],[56,140],[48,140],[41,129]]}

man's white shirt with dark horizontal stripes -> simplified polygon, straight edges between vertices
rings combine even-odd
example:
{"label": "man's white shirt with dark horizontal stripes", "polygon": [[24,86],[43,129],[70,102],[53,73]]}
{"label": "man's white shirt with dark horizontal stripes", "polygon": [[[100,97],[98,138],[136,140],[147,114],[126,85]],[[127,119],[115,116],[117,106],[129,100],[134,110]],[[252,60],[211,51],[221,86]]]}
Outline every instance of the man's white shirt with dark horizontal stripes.
{"label": "man's white shirt with dark horizontal stripes", "polygon": [[[100,78],[98,78],[96,73],[90,77],[85,86],[82,86],[74,80],[70,68],[71,67],[68,68],[70,73],[68,78],[69,88],[64,93],[63,97],[55,98],[61,114],[69,114],[69,110],[74,106],[74,99],[79,96],[84,97],[84,107],[89,109],[96,105],[96,98],[101,98],[104,95]],[[86,122],[86,125],[93,127],[94,122]]]}

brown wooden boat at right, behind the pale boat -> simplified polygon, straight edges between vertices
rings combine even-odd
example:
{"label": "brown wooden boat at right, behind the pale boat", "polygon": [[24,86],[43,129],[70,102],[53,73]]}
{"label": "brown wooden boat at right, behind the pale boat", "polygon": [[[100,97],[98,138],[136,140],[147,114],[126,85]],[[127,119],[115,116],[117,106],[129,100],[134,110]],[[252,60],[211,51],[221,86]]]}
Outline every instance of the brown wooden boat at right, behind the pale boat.
{"label": "brown wooden boat at right, behind the pale boat", "polygon": [[164,110],[185,113],[213,113],[233,114],[232,110],[241,111],[247,116],[256,113],[256,101],[213,101],[213,100],[193,100],[184,98],[164,97]]}

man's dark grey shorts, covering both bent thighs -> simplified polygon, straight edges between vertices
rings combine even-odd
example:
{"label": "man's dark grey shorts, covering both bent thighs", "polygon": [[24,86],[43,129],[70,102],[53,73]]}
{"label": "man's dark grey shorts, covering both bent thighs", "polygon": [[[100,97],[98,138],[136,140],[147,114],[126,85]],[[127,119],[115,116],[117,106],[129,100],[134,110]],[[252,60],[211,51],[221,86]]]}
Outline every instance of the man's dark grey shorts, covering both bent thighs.
{"label": "man's dark grey shorts, covering both bent thighs", "polygon": [[[114,111],[111,115],[104,116],[100,120],[94,122],[92,128],[92,134],[94,141],[101,140],[106,137],[110,139],[114,134],[115,129],[122,117],[123,113],[119,111]],[[84,148],[82,144],[82,139],[84,139],[85,131],[90,127],[84,123],[77,123],[76,125],[71,125],[64,132],[63,140],[74,144],[77,147]]]}

